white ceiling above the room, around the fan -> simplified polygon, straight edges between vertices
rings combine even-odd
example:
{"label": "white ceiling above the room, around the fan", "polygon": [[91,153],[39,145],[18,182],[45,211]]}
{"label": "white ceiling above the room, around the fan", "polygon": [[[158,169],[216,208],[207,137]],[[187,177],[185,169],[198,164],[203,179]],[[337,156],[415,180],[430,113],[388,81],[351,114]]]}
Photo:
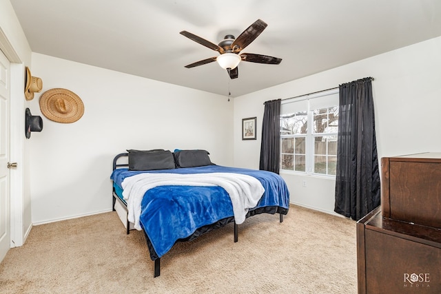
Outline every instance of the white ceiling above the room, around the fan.
{"label": "white ceiling above the room, around the fan", "polygon": [[[10,0],[32,52],[232,96],[441,36],[440,0]],[[212,43],[257,19],[268,26],[243,52],[283,59],[240,63],[230,80]]]}

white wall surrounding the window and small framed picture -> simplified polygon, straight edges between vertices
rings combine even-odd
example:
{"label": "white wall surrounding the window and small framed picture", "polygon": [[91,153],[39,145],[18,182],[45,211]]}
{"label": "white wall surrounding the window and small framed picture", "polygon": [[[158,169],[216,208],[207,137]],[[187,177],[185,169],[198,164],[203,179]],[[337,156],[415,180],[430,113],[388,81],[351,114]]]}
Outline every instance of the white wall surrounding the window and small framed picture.
{"label": "white wall surrounding the window and small framed picture", "polygon": [[[260,127],[263,102],[325,90],[367,76],[375,78],[372,87],[379,158],[441,151],[440,52],[438,37],[236,98],[234,165],[258,168],[260,136],[256,141],[240,140],[240,124],[242,118],[257,116]],[[282,176],[289,186],[291,202],[333,213],[334,180]],[[302,187],[302,180],[307,180],[307,187]]]}

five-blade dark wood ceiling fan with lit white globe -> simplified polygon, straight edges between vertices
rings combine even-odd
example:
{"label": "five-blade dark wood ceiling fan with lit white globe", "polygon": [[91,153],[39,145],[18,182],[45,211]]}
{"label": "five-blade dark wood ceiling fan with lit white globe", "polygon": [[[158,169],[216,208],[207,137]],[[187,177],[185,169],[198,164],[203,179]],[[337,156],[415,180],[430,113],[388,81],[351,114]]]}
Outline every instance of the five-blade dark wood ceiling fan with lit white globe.
{"label": "five-blade dark wood ceiling fan with lit white globe", "polygon": [[183,36],[186,36],[193,41],[204,45],[207,48],[215,50],[220,53],[219,56],[210,57],[209,59],[204,59],[201,61],[196,61],[189,65],[185,65],[187,68],[196,67],[199,65],[204,65],[217,61],[224,70],[227,70],[230,78],[238,77],[238,64],[240,61],[248,61],[254,63],[265,63],[265,64],[279,64],[282,59],[273,56],[267,56],[262,54],[253,53],[241,53],[239,54],[247,45],[252,43],[257,36],[267,28],[267,23],[258,19],[252,25],[250,25],[247,30],[243,31],[237,39],[234,38],[232,34],[227,34],[218,45],[207,41],[200,36],[196,36],[191,32],[183,30],[180,32]]}

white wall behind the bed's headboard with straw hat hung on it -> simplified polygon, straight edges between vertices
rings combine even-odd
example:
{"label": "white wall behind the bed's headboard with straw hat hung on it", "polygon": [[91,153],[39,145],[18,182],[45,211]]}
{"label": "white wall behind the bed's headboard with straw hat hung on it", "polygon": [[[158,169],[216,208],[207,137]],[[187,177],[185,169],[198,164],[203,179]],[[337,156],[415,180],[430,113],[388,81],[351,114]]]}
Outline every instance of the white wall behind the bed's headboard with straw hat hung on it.
{"label": "white wall behind the bed's headboard with straw hat hung on it", "polygon": [[[32,133],[32,222],[112,209],[112,159],[125,149],[206,149],[233,164],[233,107],[225,96],[32,53],[43,91],[32,101],[43,132]],[[85,105],[75,123],[48,120],[39,96],[61,87]]]}

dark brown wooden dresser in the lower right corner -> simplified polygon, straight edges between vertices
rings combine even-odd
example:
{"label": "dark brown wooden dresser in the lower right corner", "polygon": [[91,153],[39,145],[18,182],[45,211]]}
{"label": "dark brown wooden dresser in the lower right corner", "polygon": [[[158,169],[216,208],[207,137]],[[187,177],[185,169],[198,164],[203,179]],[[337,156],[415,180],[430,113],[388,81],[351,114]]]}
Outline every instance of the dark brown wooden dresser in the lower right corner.
{"label": "dark brown wooden dresser in the lower right corner", "polygon": [[358,293],[441,293],[441,153],[382,158],[381,202],[357,223]]}

